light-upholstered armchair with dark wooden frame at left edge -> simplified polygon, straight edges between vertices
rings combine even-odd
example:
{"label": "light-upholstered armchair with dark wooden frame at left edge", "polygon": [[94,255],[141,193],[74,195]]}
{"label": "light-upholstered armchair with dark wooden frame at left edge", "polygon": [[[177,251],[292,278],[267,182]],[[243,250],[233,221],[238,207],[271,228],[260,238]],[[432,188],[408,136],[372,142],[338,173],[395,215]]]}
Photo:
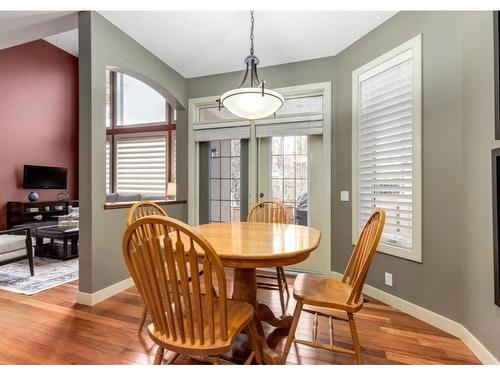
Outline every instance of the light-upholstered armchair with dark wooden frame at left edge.
{"label": "light-upholstered armchair with dark wooden frame at left edge", "polygon": [[28,258],[31,276],[34,276],[33,246],[29,227],[0,231],[0,265]]}

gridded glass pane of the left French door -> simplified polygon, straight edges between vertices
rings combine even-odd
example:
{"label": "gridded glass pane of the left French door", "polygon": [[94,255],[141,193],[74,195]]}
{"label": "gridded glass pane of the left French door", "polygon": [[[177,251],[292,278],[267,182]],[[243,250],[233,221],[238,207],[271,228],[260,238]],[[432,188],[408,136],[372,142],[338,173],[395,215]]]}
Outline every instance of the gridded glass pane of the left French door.
{"label": "gridded glass pane of the left French door", "polygon": [[241,141],[212,141],[209,150],[209,221],[240,221]]}

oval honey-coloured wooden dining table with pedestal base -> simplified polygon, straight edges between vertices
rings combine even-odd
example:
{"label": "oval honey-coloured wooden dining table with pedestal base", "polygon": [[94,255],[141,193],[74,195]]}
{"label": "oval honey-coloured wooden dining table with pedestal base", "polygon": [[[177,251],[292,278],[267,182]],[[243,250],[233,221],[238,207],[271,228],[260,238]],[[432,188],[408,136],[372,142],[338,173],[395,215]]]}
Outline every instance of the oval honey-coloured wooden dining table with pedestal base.
{"label": "oval honey-coloured wooden dining table with pedestal base", "polygon": [[254,307],[263,362],[280,364],[281,355],[269,347],[262,323],[283,328],[280,331],[286,335],[292,316],[278,317],[269,306],[258,301],[256,269],[286,267],[306,260],[318,248],[320,231],[295,224],[256,222],[217,222],[194,229],[210,242],[224,267],[234,269],[232,298]]}

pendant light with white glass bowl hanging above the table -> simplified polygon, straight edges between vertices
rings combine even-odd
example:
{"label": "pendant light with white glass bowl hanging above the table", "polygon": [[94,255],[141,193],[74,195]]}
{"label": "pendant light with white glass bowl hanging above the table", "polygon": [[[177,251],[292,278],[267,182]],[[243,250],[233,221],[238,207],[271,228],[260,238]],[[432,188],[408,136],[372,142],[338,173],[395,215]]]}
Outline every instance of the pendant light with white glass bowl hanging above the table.
{"label": "pendant light with white glass bowl hanging above the table", "polygon": [[[250,55],[244,60],[246,65],[245,76],[239,88],[225,92],[218,102],[219,110],[223,106],[238,117],[256,120],[276,112],[281,108],[285,99],[280,93],[266,89],[264,87],[265,81],[259,81],[257,75],[259,59],[254,55],[253,10],[250,12],[250,22]],[[248,84],[245,85],[248,78],[250,78],[250,87],[248,87]]]}

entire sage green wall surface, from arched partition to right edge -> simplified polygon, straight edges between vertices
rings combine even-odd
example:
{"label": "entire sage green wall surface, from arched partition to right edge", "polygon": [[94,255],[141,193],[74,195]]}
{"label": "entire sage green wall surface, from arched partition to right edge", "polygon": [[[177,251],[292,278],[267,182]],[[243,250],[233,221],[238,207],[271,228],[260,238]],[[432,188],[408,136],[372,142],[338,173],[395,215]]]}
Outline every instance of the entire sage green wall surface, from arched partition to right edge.
{"label": "entire sage green wall surface, from arched partition to right edge", "polygon": [[[270,86],[332,81],[332,270],[352,250],[351,73],[423,34],[423,263],[377,254],[368,283],[464,324],[500,358],[500,308],[493,304],[490,151],[493,132],[491,12],[400,12],[337,56],[262,68]],[[257,44],[258,47],[258,44]],[[257,49],[258,52],[258,49]],[[140,72],[186,98],[237,87],[241,72],[184,80],[95,12],[80,14],[80,291],[128,277],[121,256],[126,210],[104,205],[104,71]],[[187,84],[186,84],[187,82]],[[186,91],[187,88],[187,91]],[[178,195],[187,196],[187,114],[177,127]],[[169,214],[186,220],[185,205]],[[394,287],[383,284],[392,272]]]}

